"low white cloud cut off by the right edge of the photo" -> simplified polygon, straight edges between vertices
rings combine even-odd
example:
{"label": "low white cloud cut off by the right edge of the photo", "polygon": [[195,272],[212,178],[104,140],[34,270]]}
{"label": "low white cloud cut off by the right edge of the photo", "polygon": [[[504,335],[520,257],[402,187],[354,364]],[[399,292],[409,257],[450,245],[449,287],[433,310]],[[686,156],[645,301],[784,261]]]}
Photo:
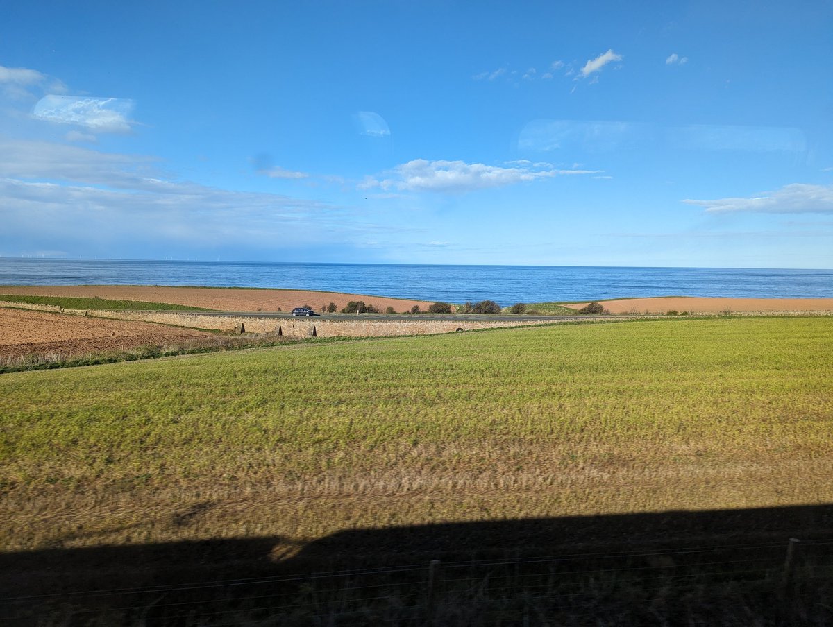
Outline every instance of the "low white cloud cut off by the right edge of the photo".
{"label": "low white cloud cut off by the right edge of the photo", "polygon": [[793,183],[776,192],[747,198],[719,198],[711,201],[686,199],[690,205],[715,213],[751,211],[756,213],[833,213],[833,186]]}

